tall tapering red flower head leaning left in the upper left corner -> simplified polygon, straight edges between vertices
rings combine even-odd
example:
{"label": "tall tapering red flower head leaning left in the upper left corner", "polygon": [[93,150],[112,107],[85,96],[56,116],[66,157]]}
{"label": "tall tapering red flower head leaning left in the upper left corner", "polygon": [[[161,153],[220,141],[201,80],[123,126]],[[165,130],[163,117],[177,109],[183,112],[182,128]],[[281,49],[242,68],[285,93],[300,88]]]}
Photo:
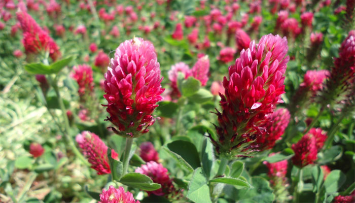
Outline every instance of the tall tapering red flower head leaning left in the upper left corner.
{"label": "tall tapering red flower head leaning left in the upper left corner", "polygon": [[49,56],[53,61],[60,57],[61,53],[57,44],[28,13],[17,12],[16,15],[23,30],[22,43],[27,54],[38,54],[42,51],[49,52]]}

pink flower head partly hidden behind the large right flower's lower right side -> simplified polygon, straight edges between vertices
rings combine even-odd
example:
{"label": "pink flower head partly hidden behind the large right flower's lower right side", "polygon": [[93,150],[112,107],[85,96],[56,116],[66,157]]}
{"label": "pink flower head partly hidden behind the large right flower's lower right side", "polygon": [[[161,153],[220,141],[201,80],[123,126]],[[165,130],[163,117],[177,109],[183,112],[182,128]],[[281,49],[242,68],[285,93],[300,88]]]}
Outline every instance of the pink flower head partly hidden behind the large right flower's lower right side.
{"label": "pink flower head partly hidden behind the large right flower's lower right side", "polygon": [[260,145],[260,150],[272,149],[275,146],[275,142],[281,138],[289,125],[290,117],[290,112],[286,108],[277,109],[267,116],[269,121],[263,126],[266,130],[265,134],[255,141]]}

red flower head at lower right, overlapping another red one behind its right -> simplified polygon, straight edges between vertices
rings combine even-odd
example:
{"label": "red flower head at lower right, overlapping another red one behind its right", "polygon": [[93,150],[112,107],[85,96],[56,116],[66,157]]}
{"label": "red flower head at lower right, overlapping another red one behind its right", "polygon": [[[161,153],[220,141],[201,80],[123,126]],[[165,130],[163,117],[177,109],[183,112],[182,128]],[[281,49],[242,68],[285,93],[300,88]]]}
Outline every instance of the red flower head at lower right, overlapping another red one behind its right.
{"label": "red flower head at lower right, overlapping another red one behind its right", "polygon": [[317,160],[317,145],[314,136],[305,134],[298,143],[292,145],[292,150],[295,152],[292,162],[300,168]]}

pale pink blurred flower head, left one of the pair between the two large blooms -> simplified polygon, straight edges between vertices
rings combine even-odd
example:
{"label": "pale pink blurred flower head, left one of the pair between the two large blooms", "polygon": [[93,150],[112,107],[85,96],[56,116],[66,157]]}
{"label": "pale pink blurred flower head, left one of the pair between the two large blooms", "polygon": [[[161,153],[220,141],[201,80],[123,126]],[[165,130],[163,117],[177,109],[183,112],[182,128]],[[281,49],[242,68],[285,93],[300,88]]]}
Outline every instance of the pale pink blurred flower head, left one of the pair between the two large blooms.
{"label": "pale pink blurred flower head, left one of the pair between the two large blooms", "polygon": [[177,97],[181,96],[181,93],[179,91],[179,88],[177,88],[177,77],[179,75],[179,72],[184,74],[185,79],[187,79],[189,76],[191,76],[191,71],[190,67],[184,63],[184,62],[179,62],[176,63],[175,65],[171,66],[170,71],[168,71],[168,78],[170,80],[170,86],[172,88],[172,94],[176,95]]}

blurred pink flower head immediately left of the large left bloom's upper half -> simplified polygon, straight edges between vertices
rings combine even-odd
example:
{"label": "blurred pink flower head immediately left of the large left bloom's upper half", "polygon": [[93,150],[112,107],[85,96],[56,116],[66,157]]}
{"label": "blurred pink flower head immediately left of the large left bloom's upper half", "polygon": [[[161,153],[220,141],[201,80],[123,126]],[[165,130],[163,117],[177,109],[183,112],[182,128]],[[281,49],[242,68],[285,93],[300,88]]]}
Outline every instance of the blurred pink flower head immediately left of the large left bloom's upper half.
{"label": "blurred pink flower head immediately left of the large left bloom's upper half", "polygon": [[79,85],[78,93],[82,101],[86,101],[86,96],[94,91],[94,79],[92,69],[87,64],[73,67],[73,73],[70,75]]}

